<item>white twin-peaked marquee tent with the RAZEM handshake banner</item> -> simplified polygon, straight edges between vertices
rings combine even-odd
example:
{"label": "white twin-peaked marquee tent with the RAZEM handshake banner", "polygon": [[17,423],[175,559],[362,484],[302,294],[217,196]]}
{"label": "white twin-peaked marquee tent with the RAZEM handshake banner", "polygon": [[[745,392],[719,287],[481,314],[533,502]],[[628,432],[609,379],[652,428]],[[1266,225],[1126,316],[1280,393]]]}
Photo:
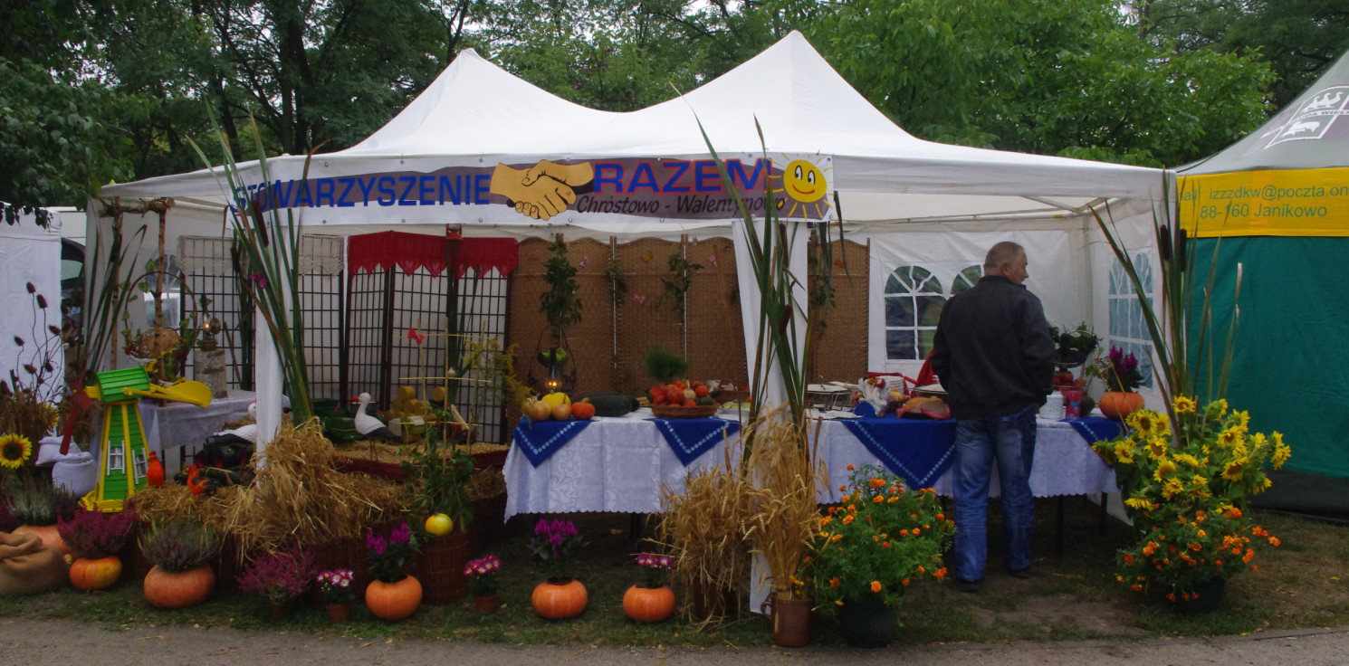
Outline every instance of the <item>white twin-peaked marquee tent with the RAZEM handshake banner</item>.
{"label": "white twin-peaked marquee tent with the RAZEM handshake banner", "polygon": [[[730,235],[743,245],[699,121],[718,154],[734,162],[733,181],[738,175],[747,191],[761,190],[759,178],[768,178],[786,200],[789,217],[842,218],[851,239],[871,241],[870,369],[916,371],[917,361],[886,359],[884,293],[890,271],[923,266],[946,284],[938,293],[948,294],[960,270],[982,263],[989,245],[1008,239],[1028,248],[1027,284],[1044,301],[1051,322],[1087,321],[1121,340],[1147,338],[1128,329],[1118,309],[1122,299],[1112,298],[1120,297],[1113,294],[1118,283],[1112,290],[1114,259],[1094,241],[1089,206],[1103,210],[1108,204],[1126,241],[1151,255],[1151,224],[1163,205],[1167,174],[916,139],[849,86],[797,32],[683,97],[629,113],[568,102],[464,51],[368,139],[316,155],[308,179],[306,158],[283,155],[268,160],[266,185],[236,195],[289,208],[308,232],[328,235],[389,228],[440,235],[445,224],[461,224],[465,236],[527,237],[567,225],[569,239],[677,237],[697,229]],[[256,162],[241,167],[250,183],[263,181]],[[815,189],[816,178],[836,200]],[[181,235],[223,232],[223,182],[220,170],[202,170],[107,186],[101,198],[127,204],[174,197],[167,243],[174,247]],[[529,182],[553,185],[552,204],[532,198]],[[812,191],[793,193],[792,186]],[[558,205],[556,190],[575,201]],[[526,212],[553,214],[546,222],[542,214],[522,214],[521,202]],[[530,209],[530,202],[538,208]],[[111,221],[97,217],[98,208],[89,206],[89,228],[105,245]],[[147,236],[143,258],[152,255],[154,233]],[[804,256],[804,248],[797,255]],[[742,271],[741,293],[751,329],[749,272]]]}

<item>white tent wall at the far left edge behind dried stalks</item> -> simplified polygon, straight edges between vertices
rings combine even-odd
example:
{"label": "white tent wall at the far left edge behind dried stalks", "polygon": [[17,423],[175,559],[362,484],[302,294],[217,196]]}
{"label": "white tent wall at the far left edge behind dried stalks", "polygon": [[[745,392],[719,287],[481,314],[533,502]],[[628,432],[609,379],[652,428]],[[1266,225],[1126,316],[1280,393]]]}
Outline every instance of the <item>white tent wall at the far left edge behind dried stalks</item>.
{"label": "white tent wall at the far left edge behind dried stalks", "polygon": [[[46,311],[38,310],[28,284],[47,301]],[[0,311],[5,313],[0,317],[0,379],[7,384],[13,372],[24,386],[32,386],[32,376],[23,371],[23,364],[31,364],[39,345],[51,337],[47,325],[61,326],[59,303],[61,216],[53,216],[46,229],[38,226],[32,214],[22,216],[13,225],[0,225]],[[15,337],[23,338],[22,348]],[[59,387],[65,377],[65,355],[59,341],[50,349],[53,372],[47,383]]]}

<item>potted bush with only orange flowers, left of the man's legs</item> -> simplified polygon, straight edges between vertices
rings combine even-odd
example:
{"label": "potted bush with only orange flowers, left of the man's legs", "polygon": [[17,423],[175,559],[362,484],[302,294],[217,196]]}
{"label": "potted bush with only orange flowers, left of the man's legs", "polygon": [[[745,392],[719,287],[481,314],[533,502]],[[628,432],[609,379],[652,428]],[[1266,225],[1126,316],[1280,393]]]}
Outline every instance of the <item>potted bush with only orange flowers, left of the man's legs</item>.
{"label": "potted bush with only orange flowers, left of the man's legs", "polygon": [[842,615],[849,644],[884,647],[898,626],[905,588],[946,577],[942,551],[955,523],[931,488],[909,488],[874,465],[849,469],[847,495],[820,519],[815,595]]}

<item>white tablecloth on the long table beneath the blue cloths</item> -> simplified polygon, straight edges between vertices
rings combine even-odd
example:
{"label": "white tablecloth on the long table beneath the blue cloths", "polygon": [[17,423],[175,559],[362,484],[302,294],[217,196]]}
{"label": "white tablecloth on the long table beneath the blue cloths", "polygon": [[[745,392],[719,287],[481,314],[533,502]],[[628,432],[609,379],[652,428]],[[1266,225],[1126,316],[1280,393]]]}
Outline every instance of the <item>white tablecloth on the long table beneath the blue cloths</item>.
{"label": "white tablecloth on the long table beneath the blue cloths", "polygon": [[[621,418],[599,418],[537,468],[517,446],[511,446],[505,468],[506,518],[573,511],[654,514],[661,510],[661,484],[683,489],[689,472],[724,464],[723,442],[685,468],[656,430],[656,423],[645,421],[648,418],[648,410]],[[1114,471],[1101,461],[1072,425],[1039,419],[1036,426],[1031,491],[1037,497],[1118,492]],[[839,485],[847,483],[849,464],[881,465],[838,421],[822,425],[817,452],[830,473],[830,484],[822,488],[820,502],[836,499]],[[942,475],[934,488],[950,495],[951,472]],[[996,472],[990,495],[998,495]]]}

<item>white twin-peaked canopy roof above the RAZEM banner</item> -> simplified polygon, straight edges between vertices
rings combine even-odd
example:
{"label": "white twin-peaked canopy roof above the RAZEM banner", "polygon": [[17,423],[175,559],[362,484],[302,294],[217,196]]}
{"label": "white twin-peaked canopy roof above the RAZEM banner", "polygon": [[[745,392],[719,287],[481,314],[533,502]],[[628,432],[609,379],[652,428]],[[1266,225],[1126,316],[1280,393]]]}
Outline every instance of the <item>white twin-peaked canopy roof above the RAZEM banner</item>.
{"label": "white twin-peaked canopy roof above the RAZEM banner", "polygon": [[[696,119],[695,119],[696,115]],[[801,156],[822,164],[847,221],[959,220],[975,216],[1050,216],[1081,210],[1101,198],[1160,198],[1156,170],[1041,155],[969,148],[911,136],[835,73],[799,32],[683,97],[629,113],[588,109],[546,93],[464,51],[387,125],[360,144],[317,155],[310,179],[368,174],[432,174],[447,167],[496,163],[648,158],[707,159],[707,143],[723,158]],[[762,127],[762,144],[755,132]],[[271,181],[299,179],[305,156],[268,160]],[[832,170],[823,166],[832,164]],[[256,163],[246,178],[259,182]],[[660,171],[657,170],[657,174]],[[658,175],[660,177],[660,175]],[[411,183],[411,181],[407,181]],[[177,197],[223,202],[219,170],[150,178],[104,187],[103,195]],[[298,208],[305,224],[532,224],[500,205],[453,205],[422,183],[380,206],[378,191],[351,187]],[[347,185],[337,181],[343,189]],[[393,183],[401,189],[401,183]],[[420,205],[406,205],[406,204]],[[495,204],[494,197],[494,204]],[[380,210],[389,208],[390,210]],[[507,213],[509,212],[509,213]],[[722,220],[733,218],[726,214]],[[662,221],[680,218],[662,214]],[[567,222],[608,226],[649,216],[580,213]]]}

